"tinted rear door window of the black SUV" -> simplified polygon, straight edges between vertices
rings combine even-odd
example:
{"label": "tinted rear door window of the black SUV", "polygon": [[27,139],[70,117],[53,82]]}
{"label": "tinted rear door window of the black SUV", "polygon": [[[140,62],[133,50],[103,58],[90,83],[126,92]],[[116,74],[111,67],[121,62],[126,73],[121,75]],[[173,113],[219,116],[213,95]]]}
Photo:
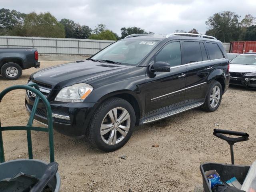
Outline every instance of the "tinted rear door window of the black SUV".
{"label": "tinted rear door window of the black SUV", "polygon": [[199,42],[184,41],[183,45],[185,49],[185,64],[202,61],[202,53]]}

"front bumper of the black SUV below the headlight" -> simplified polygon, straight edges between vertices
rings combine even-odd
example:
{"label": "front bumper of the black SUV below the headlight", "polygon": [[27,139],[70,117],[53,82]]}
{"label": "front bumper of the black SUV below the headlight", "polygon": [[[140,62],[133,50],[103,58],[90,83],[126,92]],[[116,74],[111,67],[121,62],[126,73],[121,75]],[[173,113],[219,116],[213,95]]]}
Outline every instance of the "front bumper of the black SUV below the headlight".
{"label": "front bumper of the black SUV below the headlight", "polygon": [[[29,114],[33,104],[34,98],[29,97],[26,92],[25,107]],[[50,102],[54,130],[67,136],[84,136],[92,114],[98,105],[99,103]],[[42,102],[38,103],[34,119],[42,124],[48,124],[46,108]]]}

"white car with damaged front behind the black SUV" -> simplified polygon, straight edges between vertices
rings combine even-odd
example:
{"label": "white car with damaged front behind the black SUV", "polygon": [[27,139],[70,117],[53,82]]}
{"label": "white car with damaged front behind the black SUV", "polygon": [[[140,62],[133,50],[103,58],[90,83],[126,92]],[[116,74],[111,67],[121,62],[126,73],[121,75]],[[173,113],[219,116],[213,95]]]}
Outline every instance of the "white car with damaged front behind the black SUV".
{"label": "white car with damaged front behind the black SUV", "polygon": [[256,53],[240,54],[230,61],[230,84],[256,88]]}

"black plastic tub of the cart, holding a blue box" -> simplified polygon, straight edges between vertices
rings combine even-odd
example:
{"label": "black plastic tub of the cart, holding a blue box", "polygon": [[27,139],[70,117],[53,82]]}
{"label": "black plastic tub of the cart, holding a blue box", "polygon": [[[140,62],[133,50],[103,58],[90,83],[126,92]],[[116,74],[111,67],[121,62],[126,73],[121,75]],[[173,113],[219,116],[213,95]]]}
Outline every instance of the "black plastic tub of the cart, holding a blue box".
{"label": "black plastic tub of the cart, holding a blue box", "polygon": [[236,179],[243,184],[244,179],[249,171],[250,166],[244,165],[232,165],[232,164],[220,164],[220,163],[203,163],[200,165],[200,171],[203,178],[203,187],[205,192],[212,192],[211,186],[204,174],[204,172],[209,170],[216,170],[220,175],[220,179],[222,181],[227,181],[232,177],[236,177]]}

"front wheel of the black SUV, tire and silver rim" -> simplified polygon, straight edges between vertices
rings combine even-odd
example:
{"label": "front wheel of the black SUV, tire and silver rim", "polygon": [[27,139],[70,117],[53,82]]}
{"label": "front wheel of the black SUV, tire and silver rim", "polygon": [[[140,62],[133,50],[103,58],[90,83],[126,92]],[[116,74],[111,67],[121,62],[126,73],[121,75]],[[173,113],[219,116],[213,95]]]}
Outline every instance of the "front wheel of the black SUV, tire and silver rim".
{"label": "front wheel of the black SUV, tire and silver rim", "polygon": [[100,150],[115,151],[124,146],[132,136],[135,120],[135,112],[129,102],[121,98],[110,98],[92,115],[87,130],[88,140]]}

